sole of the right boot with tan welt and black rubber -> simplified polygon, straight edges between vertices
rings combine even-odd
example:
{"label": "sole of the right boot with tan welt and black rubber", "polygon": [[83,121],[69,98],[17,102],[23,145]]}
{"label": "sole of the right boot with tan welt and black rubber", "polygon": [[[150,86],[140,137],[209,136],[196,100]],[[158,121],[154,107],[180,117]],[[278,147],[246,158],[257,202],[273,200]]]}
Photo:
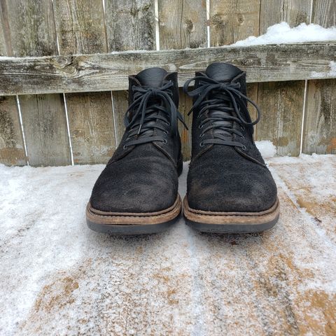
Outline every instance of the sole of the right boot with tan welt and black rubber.
{"label": "sole of the right boot with tan welt and black rubber", "polygon": [[279,219],[280,205],[275,204],[260,212],[213,212],[191,209],[187,197],[183,200],[183,216],[186,224],[200,232],[251,233],[273,228]]}

